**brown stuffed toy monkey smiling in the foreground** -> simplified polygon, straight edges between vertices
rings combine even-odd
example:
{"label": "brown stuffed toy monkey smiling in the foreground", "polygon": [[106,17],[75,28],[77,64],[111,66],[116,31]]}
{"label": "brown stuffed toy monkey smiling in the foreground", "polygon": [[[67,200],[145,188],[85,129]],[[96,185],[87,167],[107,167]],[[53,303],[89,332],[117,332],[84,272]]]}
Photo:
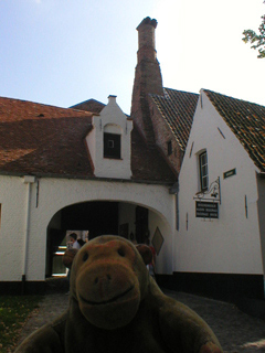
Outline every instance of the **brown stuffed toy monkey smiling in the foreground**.
{"label": "brown stuffed toy monkey smiling in the foreground", "polygon": [[65,313],[15,353],[222,353],[209,325],[149,276],[148,246],[118,236],[84,245],[71,269]]}

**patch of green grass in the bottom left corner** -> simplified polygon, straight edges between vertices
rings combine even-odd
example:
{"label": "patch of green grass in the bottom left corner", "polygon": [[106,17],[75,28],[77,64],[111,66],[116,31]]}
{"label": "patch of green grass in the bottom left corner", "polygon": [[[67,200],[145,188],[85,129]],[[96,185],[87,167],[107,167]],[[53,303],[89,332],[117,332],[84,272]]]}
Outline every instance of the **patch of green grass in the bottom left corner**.
{"label": "patch of green grass in the bottom left corner", "polygon": [[41,296],[0,297],[0,352],[13,351],[29,314],[39,307]]}

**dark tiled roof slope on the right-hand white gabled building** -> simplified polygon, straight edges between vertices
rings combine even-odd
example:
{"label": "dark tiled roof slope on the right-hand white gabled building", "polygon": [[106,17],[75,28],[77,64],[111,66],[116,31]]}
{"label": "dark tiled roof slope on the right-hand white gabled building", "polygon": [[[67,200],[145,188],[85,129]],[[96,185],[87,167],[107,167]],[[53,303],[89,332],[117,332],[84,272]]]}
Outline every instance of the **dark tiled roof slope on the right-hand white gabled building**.
{"label": "dark tiled roof slope on the right-hand white gabled building", "polygon": [[256,167],[265,172],[265,107],[203,89]]}

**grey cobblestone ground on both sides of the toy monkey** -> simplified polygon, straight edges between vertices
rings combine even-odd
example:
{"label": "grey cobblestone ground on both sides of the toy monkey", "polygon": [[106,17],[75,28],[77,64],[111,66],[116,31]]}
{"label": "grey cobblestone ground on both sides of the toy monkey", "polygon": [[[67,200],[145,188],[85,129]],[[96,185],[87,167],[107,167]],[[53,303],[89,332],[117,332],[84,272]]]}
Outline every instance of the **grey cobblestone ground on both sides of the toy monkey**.
{"label": "grey cobblestone ground on both sides of the toy monkey", "polygon": [[[245,314],[227,302],[168,290],[165,292],[199,313],[212,328],[225,353],[265,352],[264,320]],[[65,293],[45,296],[39,310],[33,312],[25,323],[19,342],[56,318],[67,308],[67,304],[68,296]]]}

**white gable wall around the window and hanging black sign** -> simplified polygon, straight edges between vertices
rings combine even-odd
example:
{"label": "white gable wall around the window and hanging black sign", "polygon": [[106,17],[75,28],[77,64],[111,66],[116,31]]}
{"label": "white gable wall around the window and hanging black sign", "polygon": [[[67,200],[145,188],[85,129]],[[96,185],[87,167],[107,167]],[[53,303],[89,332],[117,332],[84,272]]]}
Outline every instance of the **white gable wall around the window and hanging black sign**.
{"label": "white gable wall around the window and hanging black sign", "polygon": [[[208,151],[209,183],[218,176],[221,181],[219,220],[195,217],[193,197],[200,191],[198,153],[203,149]],[[236,169],[236,174],[223,179],[223,173],[232,169]],[[202,90],[179,178],[180,228],[176,234],[176,271],[263,274],[256,171],[237,138]]]}

